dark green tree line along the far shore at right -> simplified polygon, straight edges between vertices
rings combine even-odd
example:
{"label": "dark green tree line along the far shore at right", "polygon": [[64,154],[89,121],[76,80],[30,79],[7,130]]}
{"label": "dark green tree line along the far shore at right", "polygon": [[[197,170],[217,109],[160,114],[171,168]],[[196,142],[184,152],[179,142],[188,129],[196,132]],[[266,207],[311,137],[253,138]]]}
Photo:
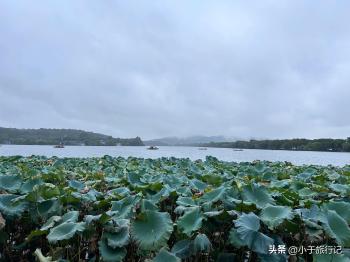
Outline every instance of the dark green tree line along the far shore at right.
{"label": "dark green tree line along the far shore at right", "polygon": [[227,147],[242,149],[271,149],[298,151],[332,151],[350,152],[350,137],[347,139],[282,139],[282,140],[249,140],[235,142],[206,143],[200,146]]}

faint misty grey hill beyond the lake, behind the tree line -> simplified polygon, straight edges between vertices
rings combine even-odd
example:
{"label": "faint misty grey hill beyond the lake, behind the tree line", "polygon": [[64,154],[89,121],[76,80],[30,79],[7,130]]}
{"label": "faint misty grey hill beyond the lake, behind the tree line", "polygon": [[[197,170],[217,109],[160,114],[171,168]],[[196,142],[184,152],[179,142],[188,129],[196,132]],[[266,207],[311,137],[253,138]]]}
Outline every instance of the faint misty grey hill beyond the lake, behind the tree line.
{"label": "faint misty grey hill beyond the lake, behind the tree line", "polygon": [[[190,137],[164,137],[144,141],[145,145],[154,146],[196,146],[198,144],[210,142],[226,142],[227,138],[223,136],[190,136]],[[232,140],[231,140],[232,141]]]}

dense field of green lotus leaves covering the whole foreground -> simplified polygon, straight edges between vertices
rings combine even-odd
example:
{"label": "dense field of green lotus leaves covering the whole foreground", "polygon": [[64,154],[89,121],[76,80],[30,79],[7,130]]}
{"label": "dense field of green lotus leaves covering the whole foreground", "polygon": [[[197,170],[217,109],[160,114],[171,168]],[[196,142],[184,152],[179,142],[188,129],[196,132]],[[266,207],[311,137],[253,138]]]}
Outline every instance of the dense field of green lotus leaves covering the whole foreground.
{"label": "dense field of green lotus leaves covering the whole foreground", "polygon": [[350,261],[350,166],[0,157],[0,193],[2,261]]}

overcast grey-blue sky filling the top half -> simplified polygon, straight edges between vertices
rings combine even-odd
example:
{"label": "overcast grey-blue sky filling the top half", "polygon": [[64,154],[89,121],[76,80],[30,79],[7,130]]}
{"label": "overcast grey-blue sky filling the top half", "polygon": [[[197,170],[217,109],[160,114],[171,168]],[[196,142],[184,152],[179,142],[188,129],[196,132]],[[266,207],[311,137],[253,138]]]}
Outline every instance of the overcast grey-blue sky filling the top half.
{"label": "overcast grey-blue sky filling the top half", "polygon": [[350,136],[350,1],[0,1],[0,126]]}

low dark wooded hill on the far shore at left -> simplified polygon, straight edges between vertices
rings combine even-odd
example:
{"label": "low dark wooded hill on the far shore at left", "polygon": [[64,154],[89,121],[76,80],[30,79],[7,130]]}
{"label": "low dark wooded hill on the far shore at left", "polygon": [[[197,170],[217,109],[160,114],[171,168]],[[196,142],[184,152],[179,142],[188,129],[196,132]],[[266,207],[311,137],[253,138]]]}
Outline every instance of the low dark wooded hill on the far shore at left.
{"label": "low dark wooded hill on the far shore at left", "polygon": [[0,127],[0,144],[14,145],[143,146],[141,138],[112,136],[76,129],[17,129]]}

